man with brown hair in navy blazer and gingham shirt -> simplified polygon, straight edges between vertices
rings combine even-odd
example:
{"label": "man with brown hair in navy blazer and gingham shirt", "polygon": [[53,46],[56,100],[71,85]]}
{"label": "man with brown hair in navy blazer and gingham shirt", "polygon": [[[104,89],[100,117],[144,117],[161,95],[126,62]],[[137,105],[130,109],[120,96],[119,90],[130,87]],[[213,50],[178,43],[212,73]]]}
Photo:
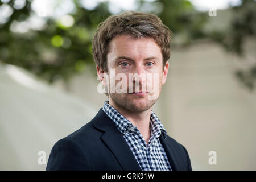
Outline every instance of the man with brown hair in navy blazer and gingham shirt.
{"label": "man with brown hair in navy blazer and gingham shirt", "polygon": [[127,11],[100,24],[93,56],[109,100],[53,146],[47,170],[192,170],[187,150],[151,110],[166,82],[170,42],[153,14]]}

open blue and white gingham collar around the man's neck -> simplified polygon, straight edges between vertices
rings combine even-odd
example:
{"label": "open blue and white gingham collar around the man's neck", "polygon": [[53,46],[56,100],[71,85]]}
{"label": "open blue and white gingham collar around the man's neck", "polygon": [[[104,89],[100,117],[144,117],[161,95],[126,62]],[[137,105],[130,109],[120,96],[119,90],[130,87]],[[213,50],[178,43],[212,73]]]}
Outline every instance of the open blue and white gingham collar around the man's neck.
{"label": "open blue and white gingham collar around the man's neck", "polygon": [[[127,127],[133,126],[129,119],[120,114],[116,109],[114,109],[113,106],[109,105],[109,101],[104,102],[102,110],[106,113],[106,115],[108,115],[110,119],[112,119],[112,121],[115,123],[115,126],[117,126],[117,129],[122,134],[126,133]],[[150,115],[150,131],[151,135],[154,137],[159,137],[161,134],[163,134],[164,138],[167,137],[167,132],[164,129],[163,124],[152,110]]]}

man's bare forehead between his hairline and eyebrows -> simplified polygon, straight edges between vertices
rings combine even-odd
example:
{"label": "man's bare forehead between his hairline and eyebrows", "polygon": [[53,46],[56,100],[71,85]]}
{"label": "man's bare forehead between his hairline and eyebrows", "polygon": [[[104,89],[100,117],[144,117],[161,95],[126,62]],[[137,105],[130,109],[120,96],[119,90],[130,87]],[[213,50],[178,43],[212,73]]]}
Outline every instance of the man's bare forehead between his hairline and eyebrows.
{"label": "man's bare forehead between his hairline and eyebrows", "polygon": [[152,38],[133,38],[131,35],[119,35],[111,40],[109,46],[109,53],[144,53],[155,56],[159,54],[162,55],[160,47]]}

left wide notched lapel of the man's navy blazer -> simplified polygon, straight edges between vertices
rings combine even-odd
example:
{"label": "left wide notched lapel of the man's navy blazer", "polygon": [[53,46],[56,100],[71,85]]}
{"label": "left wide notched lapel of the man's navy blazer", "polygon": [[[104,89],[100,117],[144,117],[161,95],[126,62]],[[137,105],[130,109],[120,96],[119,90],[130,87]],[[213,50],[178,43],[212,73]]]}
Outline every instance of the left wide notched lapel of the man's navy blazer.
{"label": "left wide notched lapel of the man's navy blazer", "polygon": [[109,147],[118,160],[120,166],[125,171],[141,171],[141,167],[135,159],[133,152],[126,143],[125,138],[114,125],[114,122],[104,113],[102,109],[98,111],[96,117],[93,118],[94,127],[104,131],[101,136],[103,142]]}

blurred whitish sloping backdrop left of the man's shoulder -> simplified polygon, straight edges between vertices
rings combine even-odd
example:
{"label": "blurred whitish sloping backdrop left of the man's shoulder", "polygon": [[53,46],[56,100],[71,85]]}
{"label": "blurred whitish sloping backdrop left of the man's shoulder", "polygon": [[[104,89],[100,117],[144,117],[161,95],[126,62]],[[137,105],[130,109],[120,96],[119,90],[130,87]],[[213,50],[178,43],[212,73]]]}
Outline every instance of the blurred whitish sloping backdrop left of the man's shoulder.
{"label": "blurred whitish sloping backdrop left of the man's shoulder", "polygon": [[[0,64],[0,170],[44,170],[53,144],[89,122],[95,108]],[[38,163],[39,151],[46,164]]]}

